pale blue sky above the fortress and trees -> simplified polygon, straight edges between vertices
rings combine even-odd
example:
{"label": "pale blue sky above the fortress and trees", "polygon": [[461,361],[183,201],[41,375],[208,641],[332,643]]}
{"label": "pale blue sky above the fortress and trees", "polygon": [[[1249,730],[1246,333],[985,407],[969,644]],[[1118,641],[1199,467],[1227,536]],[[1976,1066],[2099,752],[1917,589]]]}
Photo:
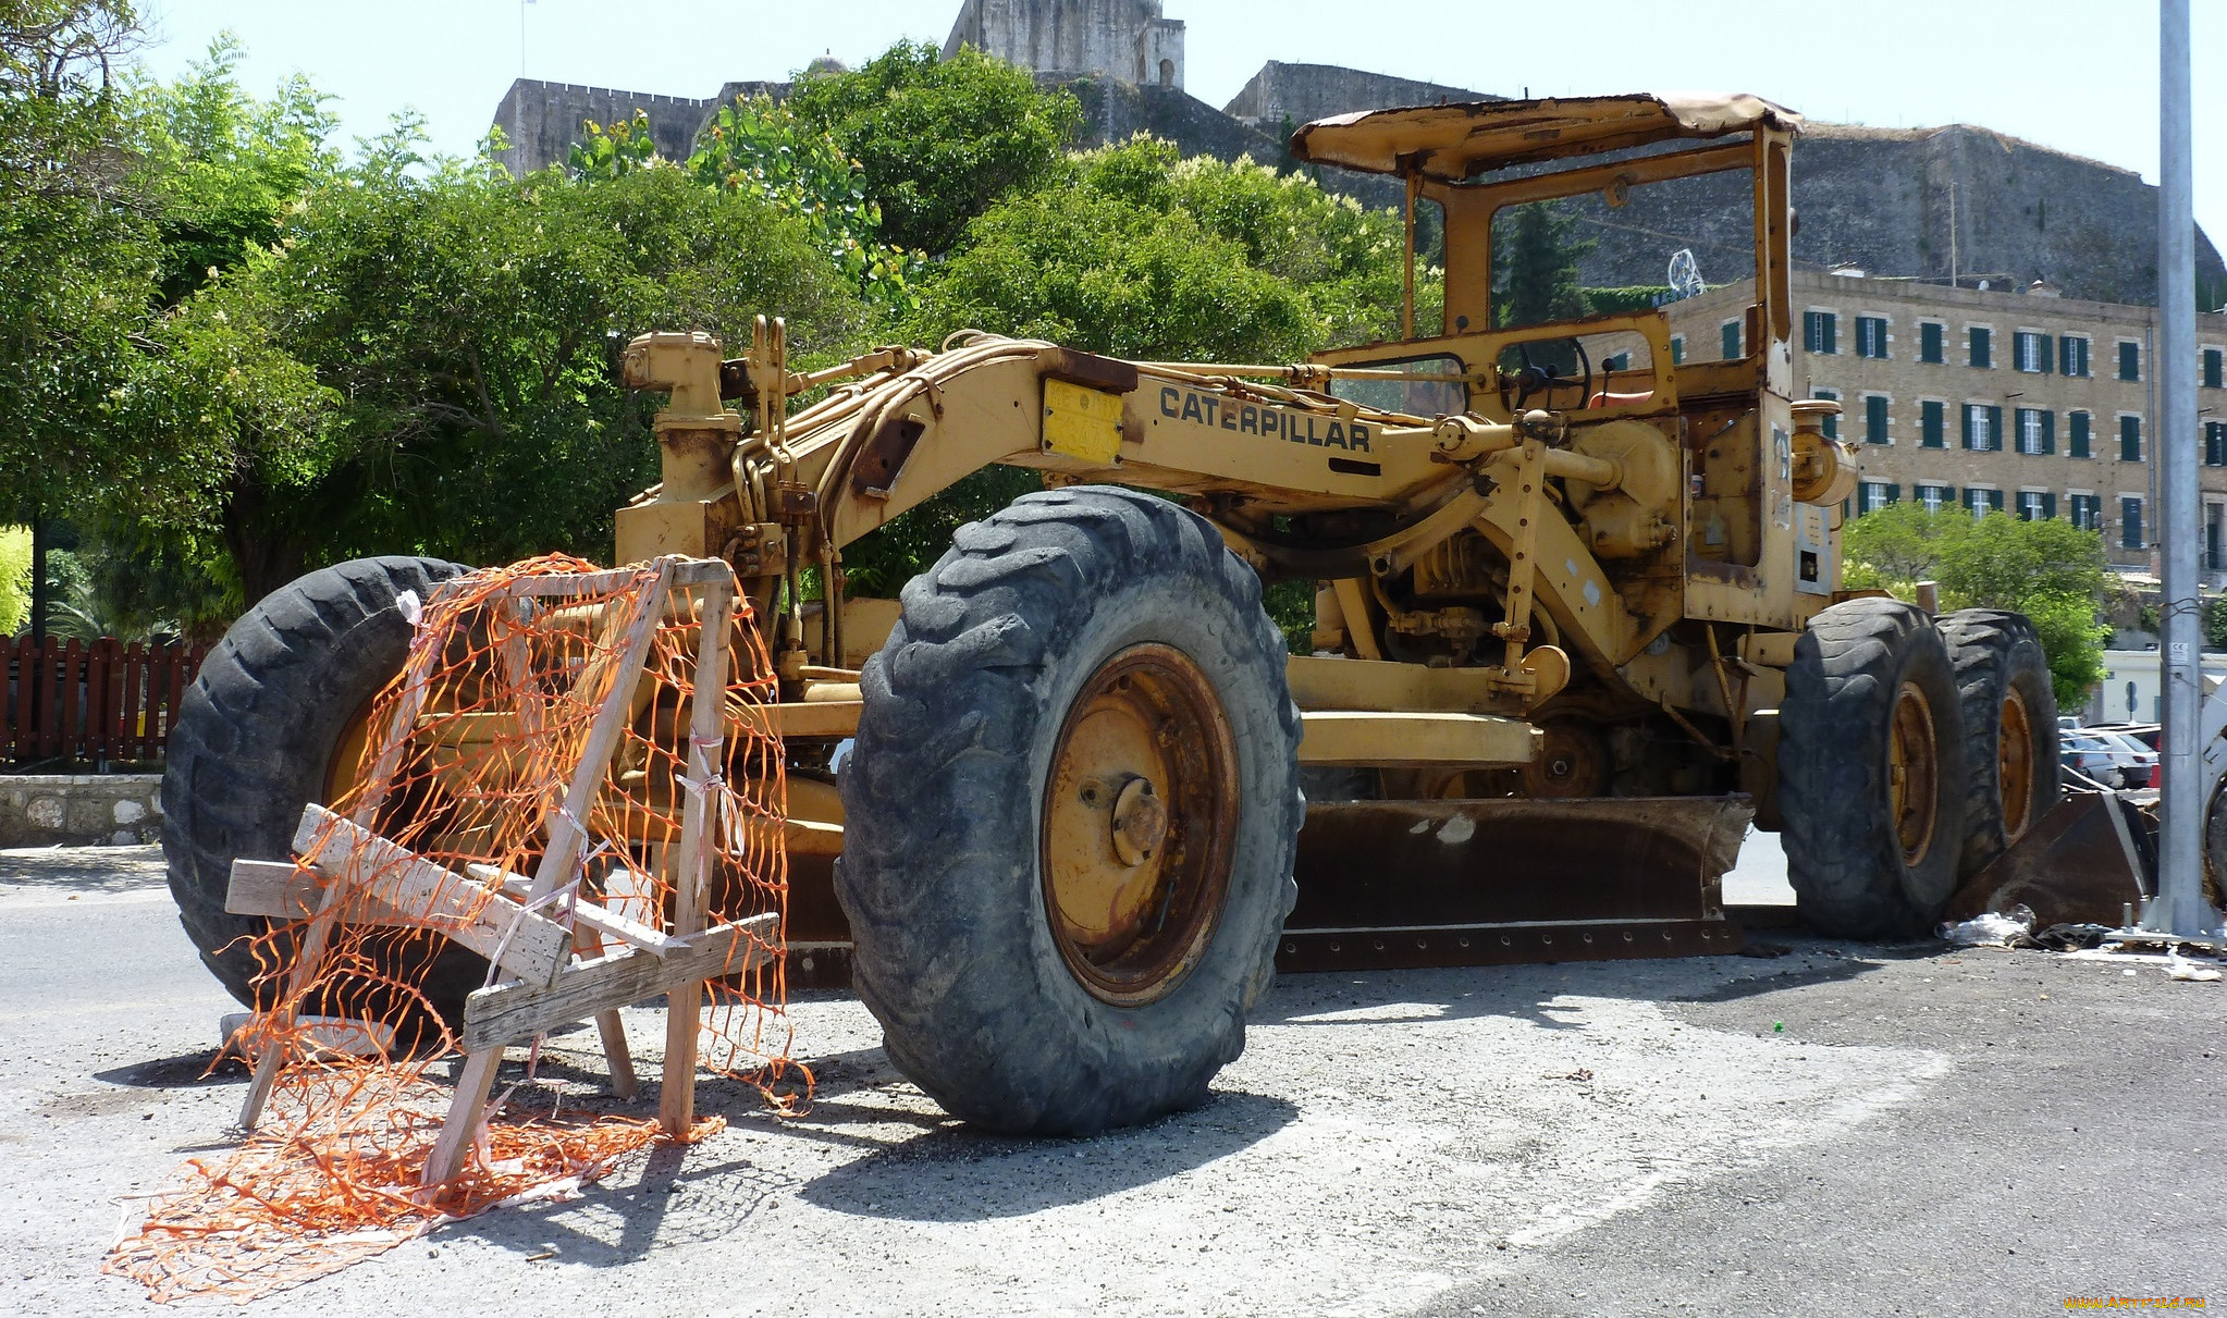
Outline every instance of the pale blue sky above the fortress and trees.
{"label": "pale blue sky above the fortress and trees", "polygon": [[[958,0],[143,0],[143,60],[174,76],[218,31],[267,91],[301,71],[343,134],[419,109],[468,151],[521,71],[710,96],[831,51],[942,42]],[[2227,243],[2227,2],[2194,0],[2196,218]],[[1755,91],[1826,120],[1975,122],[2158,176],[2158,9],[2145,0],[1864,0],[1699,7],[1595,0],[1165,0],[1187,24],[1187,89],[1223,105],[1263,60],[1350,65],[1503,96]],[[1272,20],[1267,16],[1274,16]],[[523,18],[523,22],[521,22]]]}

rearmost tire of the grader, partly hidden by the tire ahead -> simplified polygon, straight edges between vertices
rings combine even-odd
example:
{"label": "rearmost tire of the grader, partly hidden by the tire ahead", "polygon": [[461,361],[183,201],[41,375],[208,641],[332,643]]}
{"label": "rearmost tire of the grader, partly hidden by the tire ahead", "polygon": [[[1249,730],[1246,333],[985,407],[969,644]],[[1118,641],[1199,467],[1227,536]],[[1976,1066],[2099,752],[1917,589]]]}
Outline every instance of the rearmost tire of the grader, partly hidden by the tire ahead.
{"label": "rearmost tire of the grader, partly hidden by the tire ahead", "polygon": [[1973,877],[2058,804],[2058,695],[2024,614],[1966,608],[1935,621],[1964,706],[1964,862]]}

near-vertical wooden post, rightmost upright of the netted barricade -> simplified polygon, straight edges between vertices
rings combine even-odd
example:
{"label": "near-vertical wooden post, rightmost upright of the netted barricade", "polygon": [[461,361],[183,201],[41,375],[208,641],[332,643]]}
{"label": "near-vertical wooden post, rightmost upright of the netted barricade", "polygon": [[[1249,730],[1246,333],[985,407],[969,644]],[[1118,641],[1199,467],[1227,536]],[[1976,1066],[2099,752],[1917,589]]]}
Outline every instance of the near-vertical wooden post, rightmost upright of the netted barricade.
{"label": "near-vertical wooden post, rightmost upright of the netted barricade", "polygon": [[[699,784],[688,790],[681,808],[681,857],[675,871],[673,935],[688,937],[704,928],[704,835],[713,824],[713,775],[726,770],[722,753],[726,726],[726,648],[728,619],[735,608],[733,581],[704,583],[702,630],[697,637],[695,692],[688,699],[688,777]],[[704,982],[690,980],[666,991],[666,1078],[657,1098],[657,1120],[666,1138],[686,1140],[695,1124],[697,1029],[704,1004]]]}

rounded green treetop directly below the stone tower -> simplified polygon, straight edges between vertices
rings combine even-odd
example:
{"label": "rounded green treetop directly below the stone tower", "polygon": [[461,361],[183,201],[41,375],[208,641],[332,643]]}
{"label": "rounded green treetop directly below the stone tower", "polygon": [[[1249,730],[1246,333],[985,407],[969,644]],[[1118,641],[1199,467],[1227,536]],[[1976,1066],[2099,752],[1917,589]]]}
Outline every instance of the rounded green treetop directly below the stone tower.
{"label": "rounded green treetop directly below the stone tower", "polygon": [[860,167],[882,209],[882,236],[944,254],[967,223],[1060,167],[1082,122],[1069,91],[1040,91],[1027,71],[960,49],[897,42],[855,71],[797,76],[788,107]]}

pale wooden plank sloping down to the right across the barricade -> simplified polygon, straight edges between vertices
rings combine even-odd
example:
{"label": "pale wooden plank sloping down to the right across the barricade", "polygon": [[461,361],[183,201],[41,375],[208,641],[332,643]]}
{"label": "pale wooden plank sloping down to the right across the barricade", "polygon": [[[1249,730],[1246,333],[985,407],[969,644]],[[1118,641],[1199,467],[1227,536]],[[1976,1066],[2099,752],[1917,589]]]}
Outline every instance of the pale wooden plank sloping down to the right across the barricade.
{"label": "pale wooden plank sloping down to the right across the barricade", "polygon": [[376,904],[408,913],[488,960],[501,951],[503,968],[512,975],[548,980],[572,960],[572,931],[563,924],[323,806],[303,806],[294,850],[339,877],[327,891],[376,877]]}

